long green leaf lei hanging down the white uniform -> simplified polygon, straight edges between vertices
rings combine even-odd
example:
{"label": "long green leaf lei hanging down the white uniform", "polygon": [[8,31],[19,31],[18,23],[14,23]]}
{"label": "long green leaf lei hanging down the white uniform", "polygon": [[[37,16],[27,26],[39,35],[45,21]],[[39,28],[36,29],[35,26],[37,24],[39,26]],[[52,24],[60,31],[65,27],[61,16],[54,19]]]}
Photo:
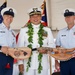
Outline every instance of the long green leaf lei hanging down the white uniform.
{"label": "long green leaf lei hanging down the white uniform", "polygon": [[[28,23],[27,27],[28,27],[28,32],[27,32],[27,34],[28,34],[28,36],[29,36],[28,41],[29,41],[29,43],[30,43],[30,44],[28,45],[28,47],[32,49],[34,30],[33,30],[33,26],[32,26],[31,23]],[[37,34],[38,34],[38,37],[39,37],[39,38],[38,38],[38,43],[39,43],[40,47],[42,47],[42,45],[43,45],[43,33],[44,33],[43,27],[44,27],[44,26],[43,26],[42,24],[40,24],[40,27],[39,27],[40,29],[39,29],[39,31],[38,31],[38,33],[37,33]],[[42,55],[41,53],[39,53],[39,54],[38,54],[38,62],[39,62],[38,73],[41,73],[41,70],[43,69],[43,67],[42,67],[42,65],[41,65],[42,57],[43,57],[43,55]],[[31,66],[30,62],[31,62],[31,57],[28,59],[28,62],[27,62],[27,68],[26,68],[26,71],[27,71],[27,72],[28,72],[28,70],[29,70],[29,67]]]}

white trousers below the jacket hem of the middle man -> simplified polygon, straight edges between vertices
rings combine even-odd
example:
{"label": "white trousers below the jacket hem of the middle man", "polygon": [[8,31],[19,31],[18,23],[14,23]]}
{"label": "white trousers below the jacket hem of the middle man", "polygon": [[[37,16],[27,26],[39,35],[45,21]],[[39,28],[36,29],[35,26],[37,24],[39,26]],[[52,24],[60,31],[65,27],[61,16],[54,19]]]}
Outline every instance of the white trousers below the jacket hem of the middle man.
{"label": "white trousers below the jacket hem of the middle man", "polygon": [[24,71],[24,75],[48,75],[48,69],[42,70],[40,74],[37,70],[29,69],[28,72]]}

